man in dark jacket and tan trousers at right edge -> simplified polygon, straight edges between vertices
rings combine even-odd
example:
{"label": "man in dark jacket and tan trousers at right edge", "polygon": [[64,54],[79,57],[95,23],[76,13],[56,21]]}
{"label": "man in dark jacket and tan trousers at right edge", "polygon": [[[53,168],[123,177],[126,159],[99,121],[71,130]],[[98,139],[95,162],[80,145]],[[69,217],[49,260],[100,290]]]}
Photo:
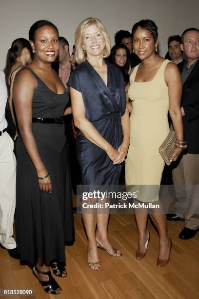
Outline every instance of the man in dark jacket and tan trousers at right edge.
{"label": "man in dark jacket and tan trousers at right edge", "polygon": [[173,170],[177,195],[176,214],[168,220],[185,219],[181,239],[190,239],[199,229],[199,30],[186,29],[181,36],[181,50],[187,60],[178,64],[182,83],[181,112],[187,149]]}

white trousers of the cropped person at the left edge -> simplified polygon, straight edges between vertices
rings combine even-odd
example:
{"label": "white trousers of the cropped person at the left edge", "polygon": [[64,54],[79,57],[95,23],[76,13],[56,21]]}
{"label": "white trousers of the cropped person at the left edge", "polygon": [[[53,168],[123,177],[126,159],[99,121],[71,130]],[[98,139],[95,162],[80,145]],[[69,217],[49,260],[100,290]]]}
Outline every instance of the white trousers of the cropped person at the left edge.
{"label": "white trousers of the cropped person at the left edge", "polygon": [[0,243],[7,249],[16,247],[13,222],[16,204],[16,158],[14,143],[7,132],[0,136]]}

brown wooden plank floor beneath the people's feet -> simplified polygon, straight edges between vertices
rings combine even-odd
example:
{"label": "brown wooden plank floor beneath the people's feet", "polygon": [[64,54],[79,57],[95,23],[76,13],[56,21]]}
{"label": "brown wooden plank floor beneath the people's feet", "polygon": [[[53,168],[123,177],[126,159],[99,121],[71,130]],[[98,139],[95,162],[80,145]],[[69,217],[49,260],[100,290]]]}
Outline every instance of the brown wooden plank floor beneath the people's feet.
{"label": "brown wooden plank floor beneath the people's feet", "polygon": [[[137,229],[133,215],[111,215],[109,236],[114,247],[123,256],[114,258],[99,250],[102,268],[94,272],[87,265],[86,236],[81,216],[75,215],[76,241],[66,247],[67,278],[57,278],[63,293],[57,298],[67,299],[195,299],[199,298],[199,233],[191,240],[180,240],[183,222],[168,222],[173,240],[171,261],[158,269],[158,235],[151,223],[147,255],[141,261],[135,258]],[[30,298],[54,298],[48,295],[27,266],[11,258],[0,249],[0,288],[33,289]],[[1,297],[3,298],[3,297]],[[15,297],[22,298],[22,297]]]}

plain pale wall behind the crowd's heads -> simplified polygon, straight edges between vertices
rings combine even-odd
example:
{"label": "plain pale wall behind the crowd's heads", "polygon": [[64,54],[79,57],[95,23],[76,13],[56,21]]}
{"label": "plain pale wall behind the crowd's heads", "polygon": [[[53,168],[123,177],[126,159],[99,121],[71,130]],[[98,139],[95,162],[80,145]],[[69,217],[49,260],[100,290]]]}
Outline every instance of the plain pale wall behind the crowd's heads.
{"label": "plain pale wall behind the crowd's heads", "polygon": [[87,17],[97,17],[110,34],[129,30],[141,19],[155,21],[159,28],[159,49],[167,51],[167,38],[188,27],[199,27],[199,0],[0,0],[0,69],[7,50],[20,37],[28,39],[30,26],[45,19],[57,25],[60,36],[74,43],[77,25]]}

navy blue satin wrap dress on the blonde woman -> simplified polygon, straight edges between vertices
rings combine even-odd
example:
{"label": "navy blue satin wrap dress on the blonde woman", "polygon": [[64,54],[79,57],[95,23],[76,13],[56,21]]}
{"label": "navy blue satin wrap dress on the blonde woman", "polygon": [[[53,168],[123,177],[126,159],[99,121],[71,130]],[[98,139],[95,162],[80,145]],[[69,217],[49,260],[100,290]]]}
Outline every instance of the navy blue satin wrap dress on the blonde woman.
{"label": "navy blue satin wrap dress on the blonde woman", "polygon": [[[114,149],[122,142],[121,116],[126,97],[123,75],[118,66],[105,61],[108,69],[107,86],[87,60],[71,74],[68,85],[80,91],[86,118]],[[77,157],[84,185],[117,185],[122,165],[113,165],[103,149],[77,131]]]}

